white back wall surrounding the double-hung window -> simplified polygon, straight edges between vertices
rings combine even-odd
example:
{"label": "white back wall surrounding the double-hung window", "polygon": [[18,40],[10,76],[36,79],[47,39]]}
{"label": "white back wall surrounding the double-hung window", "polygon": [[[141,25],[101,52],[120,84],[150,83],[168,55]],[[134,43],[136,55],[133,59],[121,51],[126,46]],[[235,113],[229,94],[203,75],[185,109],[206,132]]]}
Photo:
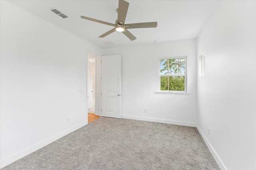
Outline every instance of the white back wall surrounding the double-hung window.
{"label": "white back wall surrounding the double-hung window", "polygon": [[[121,55],[121,117],[196,125],[196,39],[104,50],[104,55],[118,54]],[[155,94],[158,58],[178,56],[188,56],[190,95]]]}

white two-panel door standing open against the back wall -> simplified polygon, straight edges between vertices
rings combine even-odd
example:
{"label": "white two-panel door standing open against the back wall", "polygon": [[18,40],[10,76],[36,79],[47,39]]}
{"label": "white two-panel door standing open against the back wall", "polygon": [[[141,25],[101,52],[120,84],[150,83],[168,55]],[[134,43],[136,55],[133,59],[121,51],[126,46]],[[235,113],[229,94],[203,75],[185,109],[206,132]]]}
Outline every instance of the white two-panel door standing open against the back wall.
{"label": "white two-panel door standing open against the back wall", "polygon": [[101,57],[102,116],[121,118],[121,55]]}

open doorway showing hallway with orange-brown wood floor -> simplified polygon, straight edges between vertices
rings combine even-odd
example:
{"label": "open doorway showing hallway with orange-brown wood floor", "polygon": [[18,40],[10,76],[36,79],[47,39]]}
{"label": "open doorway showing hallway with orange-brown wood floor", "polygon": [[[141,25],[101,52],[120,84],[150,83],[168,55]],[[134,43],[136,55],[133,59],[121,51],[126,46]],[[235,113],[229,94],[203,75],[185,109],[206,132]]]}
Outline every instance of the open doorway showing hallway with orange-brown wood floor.
{"label": "open doorway showing hallway with orange-brown wood floor", "polygon": [[96,115],[96,55],[88,53],[87,55],[87,109],[88,109],[88,123],[99,118]]}

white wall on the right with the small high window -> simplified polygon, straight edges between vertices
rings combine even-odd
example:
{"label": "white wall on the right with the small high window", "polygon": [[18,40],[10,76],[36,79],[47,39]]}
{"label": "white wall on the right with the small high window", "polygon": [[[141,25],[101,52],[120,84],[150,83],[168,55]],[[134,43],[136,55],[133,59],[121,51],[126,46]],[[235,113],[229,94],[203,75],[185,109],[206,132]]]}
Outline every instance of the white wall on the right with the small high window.
{"label": "white wall on the right with the small high window", "polygon": [[256,169],[255,7],[255,1],[222,1],[197,40],[198,57],[206,51],[197,124],[222,169]]}

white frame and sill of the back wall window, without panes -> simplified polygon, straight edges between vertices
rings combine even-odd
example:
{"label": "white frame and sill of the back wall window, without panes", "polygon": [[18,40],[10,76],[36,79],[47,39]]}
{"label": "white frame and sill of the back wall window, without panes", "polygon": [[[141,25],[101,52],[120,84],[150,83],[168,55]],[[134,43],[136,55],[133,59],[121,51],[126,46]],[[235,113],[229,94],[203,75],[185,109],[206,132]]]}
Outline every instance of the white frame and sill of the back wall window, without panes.
{"label": "white frame and sill of the back wall window, without panes", "polygon": [[[184,59],[185,58],[185,74],[160,74],[160,60],[163,59]],[[181,56],[181,57],[164,57],[164,58],[159,58],[158,59],[158,92],[156,94],[164,94],[164,93],[187,93],[187,67],[188,67],[188,62],[187,62],[187,56]],[[177,91],[177,90],[161,90],[161,76],[185,76],[185,84],[184,84],[184,91]]]}

